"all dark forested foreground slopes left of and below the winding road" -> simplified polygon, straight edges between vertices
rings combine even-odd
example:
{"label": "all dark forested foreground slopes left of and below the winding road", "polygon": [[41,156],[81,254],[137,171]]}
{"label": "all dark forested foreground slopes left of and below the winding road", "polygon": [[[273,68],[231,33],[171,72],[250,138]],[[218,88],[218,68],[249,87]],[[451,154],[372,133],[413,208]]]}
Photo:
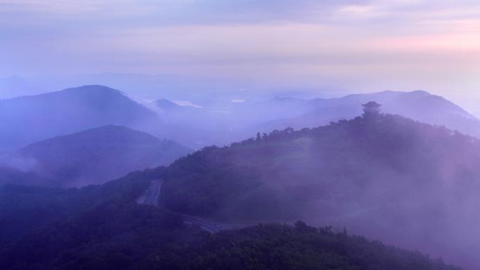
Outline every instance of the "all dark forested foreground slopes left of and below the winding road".
{"label": "all dark forested foreground slopes left of and below the winding road", "polygon": [[0,268],[458,269],[301,221],[211,235],[178,214],[134,202],[163,171],[81,189],[0,187]]}

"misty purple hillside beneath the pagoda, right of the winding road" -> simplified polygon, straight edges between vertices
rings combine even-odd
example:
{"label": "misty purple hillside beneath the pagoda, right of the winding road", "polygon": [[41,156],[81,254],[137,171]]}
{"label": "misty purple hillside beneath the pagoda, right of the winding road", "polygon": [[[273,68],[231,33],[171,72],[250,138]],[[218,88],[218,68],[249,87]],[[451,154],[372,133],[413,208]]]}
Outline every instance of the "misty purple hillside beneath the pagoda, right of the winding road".
{"label": "misty purple hillside beneath the pagoda, right of the winding road", "polygon": [[205,148],[161,189],[176,212],[227,222],[330,223],[479,266],[480,141],[408,118],[341,120]]}

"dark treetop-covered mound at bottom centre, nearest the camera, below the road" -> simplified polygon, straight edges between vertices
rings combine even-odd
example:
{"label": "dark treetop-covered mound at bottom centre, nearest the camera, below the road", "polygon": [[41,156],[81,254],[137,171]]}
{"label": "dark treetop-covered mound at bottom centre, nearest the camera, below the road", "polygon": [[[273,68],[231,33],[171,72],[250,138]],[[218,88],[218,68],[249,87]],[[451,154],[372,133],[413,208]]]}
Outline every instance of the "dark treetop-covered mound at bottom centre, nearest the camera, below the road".
{"label": "dark treetop-covered mound at bottom centre, nearest the camera, below the road", "polygon": [[335,233],[330,227],[260,224],[203,235],[173,253],[155,252],[135,269],[458,269],[417,251]]}

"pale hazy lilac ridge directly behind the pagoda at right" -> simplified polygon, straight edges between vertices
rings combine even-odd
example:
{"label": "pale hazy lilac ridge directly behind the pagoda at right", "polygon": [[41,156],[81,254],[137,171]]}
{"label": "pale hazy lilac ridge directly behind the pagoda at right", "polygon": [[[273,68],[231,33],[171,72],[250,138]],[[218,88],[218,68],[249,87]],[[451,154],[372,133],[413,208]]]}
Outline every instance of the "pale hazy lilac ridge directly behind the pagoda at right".
{"label": "pale hazy lilac ridge directly behind the pagoda at right", "polygon": [[372,100],[381,103],[383,105],[381,109],[385,113],[398,114],[433,125],[445,125],[449,129],[480,136],[480,121],[477,118],[444,97],[431,95],[422,90],[383,91],[333,99],[304,100],[301,105],[304,112],[301,115],[272,120],[267,122],[263,129],[316,127],[330,121],[353,118],[362,112],[362,104]]}

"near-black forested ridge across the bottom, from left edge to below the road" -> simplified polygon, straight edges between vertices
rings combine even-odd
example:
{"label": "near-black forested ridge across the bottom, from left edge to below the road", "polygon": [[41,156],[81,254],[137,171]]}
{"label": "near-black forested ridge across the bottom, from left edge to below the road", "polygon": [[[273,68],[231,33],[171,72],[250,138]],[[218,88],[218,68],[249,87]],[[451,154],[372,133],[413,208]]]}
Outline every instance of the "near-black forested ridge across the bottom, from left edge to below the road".
{"label": "near-black forested ridge across the bottom, from left edge to below the road", "polygon": [[115,199],[3,242],[0,268],[458,269],[301,221],[211,235],[159,207]]}

